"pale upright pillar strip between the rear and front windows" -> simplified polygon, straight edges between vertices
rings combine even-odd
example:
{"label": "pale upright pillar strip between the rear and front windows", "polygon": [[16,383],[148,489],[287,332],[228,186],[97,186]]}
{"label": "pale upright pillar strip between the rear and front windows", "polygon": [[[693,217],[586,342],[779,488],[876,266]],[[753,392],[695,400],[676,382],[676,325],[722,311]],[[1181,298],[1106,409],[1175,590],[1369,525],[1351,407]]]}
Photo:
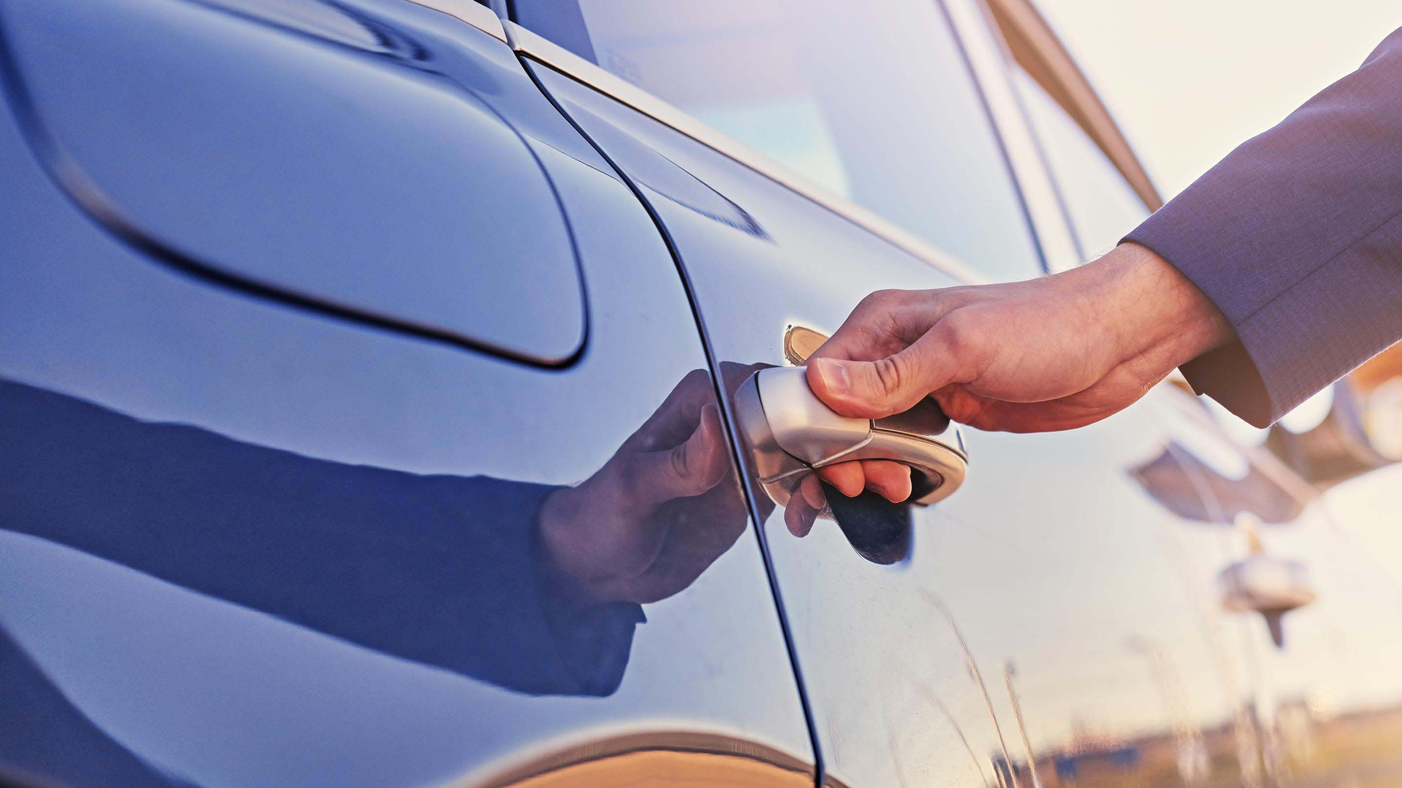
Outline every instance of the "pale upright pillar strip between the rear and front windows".
{"label": "pale upright pillar strip between the rear and front windows", "polygon": [[1008,55],[1004,53],[1002,39],[995,32],[993,14],[983,0],[944,0],[944,3],[955,32],[965,45],[988,112],[998,128],[1033,231],[1042,244],[1047,271],[1054,273],[1075,268],[1084,261],[1071,233],[1071,222],[1063,210],[1052,172],[1014,91],[1007,72]]}

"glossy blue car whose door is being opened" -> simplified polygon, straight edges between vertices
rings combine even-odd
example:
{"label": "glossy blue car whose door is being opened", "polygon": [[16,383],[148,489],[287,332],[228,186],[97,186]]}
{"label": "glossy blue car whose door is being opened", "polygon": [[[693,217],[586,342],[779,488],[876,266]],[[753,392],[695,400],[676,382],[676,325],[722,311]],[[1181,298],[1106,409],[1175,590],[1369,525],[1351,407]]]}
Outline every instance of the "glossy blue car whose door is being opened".
{"label": "glossy blue car whose door is being opened", "polygon": [[799,381],[1159,206],[1028,0],[3,0],[0,77],[0,784],[1402,778],[1395,353]]}

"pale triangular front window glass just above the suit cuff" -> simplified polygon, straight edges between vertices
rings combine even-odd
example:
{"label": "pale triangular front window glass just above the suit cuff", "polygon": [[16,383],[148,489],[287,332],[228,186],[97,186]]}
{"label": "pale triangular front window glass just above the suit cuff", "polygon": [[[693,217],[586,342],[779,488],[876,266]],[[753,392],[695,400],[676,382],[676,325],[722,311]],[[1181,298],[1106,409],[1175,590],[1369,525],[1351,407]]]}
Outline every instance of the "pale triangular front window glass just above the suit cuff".
{"label": "pale triangular front window glass just above the suit cuff", "polygon": [[1092,258],[1110,251],[1148,216],[1148,209],[1099,146],[1042,86],[1022,69],[1014,69],[1014,81],[1042,139],[1081,254]]}

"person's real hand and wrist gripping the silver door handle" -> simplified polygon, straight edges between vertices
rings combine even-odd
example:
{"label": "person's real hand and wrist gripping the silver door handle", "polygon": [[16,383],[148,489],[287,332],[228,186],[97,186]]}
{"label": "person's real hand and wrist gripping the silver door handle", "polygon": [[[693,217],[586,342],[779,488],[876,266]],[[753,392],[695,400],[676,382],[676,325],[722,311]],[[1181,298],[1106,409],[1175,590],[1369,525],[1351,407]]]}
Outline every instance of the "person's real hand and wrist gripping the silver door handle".
{"label": "person's real hand and wrist gripping the silver door handle", "polygon": [[1172,265],[1122,244],[1028,282],[872,293],[813,353],[808,381],[847,416],[880,418],[932,395],[977,429],[1047,432],[1123,409],[1231,339]]}

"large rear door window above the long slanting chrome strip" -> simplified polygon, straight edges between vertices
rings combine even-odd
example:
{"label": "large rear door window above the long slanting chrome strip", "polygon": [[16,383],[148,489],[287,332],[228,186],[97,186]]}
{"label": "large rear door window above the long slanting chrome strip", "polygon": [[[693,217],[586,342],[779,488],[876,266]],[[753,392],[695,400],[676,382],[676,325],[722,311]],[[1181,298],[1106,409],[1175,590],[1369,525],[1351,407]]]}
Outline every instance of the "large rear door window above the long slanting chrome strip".
{"label": "large rear door window above the long slanting chrome strip", "polygon": [[517,0],[516,18],[990,278],[1039,271],[937,3]]}

